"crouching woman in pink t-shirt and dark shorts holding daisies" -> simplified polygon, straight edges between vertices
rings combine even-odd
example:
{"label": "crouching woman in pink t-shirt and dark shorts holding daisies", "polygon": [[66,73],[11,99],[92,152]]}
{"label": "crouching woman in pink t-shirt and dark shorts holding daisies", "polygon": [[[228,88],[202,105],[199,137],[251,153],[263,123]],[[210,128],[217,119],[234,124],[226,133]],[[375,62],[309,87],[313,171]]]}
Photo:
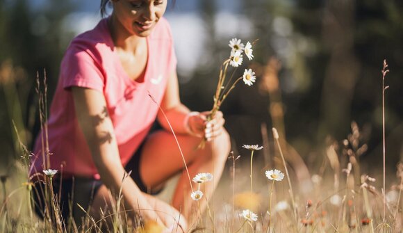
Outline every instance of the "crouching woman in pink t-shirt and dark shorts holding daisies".
{"label": "crouching woman in pink t-shirt and dark shorts holding daisies", "polygon": [[[207,112],[190,112],[181,104],[170,27],[163,18],[167,0],[110,3],[112,14],[75,38],[61,63],[48,121],[50,168],[63,165],[62,202],[74,194],[74,202],[88,204],[94,193],[92,216],[99,218],[100,208],[110,208],[114,200],[109,191],[118,193],[122,187],[125,208],[134,210],[131,216],[135,212],[142,220],[156,220],[167,228],[179,223],[186,230],[195,223],[186,172],[171,204],[147,194],[161,190],[184,168],[158,104],[179,139],[190,177],[213,174],[214,181],[204,190],[207,196],[222,175],[230,149],[224,118],[219,112],[206,122]],[[101,10],[105,6],[101,1]],[[149,132],[156,119],[163,129]],[[195,149],[204,137],[206,147]],[[42,148],[39,137],[36,171],[46,167]],[[130,176],[122,181],[125,172]],[[201,200],[201,210],[204,207]],[[62,208],[67,216],[67,204]],[[74,204],[72,214],[78,218],[83,211]]]}

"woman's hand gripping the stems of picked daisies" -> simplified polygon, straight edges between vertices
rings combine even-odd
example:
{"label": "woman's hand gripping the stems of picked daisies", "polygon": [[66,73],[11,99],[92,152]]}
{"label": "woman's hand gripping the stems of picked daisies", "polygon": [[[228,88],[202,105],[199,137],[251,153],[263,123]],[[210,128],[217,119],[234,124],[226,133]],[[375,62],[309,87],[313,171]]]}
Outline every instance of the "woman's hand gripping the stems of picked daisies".
{"label": "woman's hand gripping the stems of picked daisies", "polygon": [[217,111],[213,119],[207,121],[209,111],[202,113],[191,112],[188,113],[187,129],[189,134],[197,136],[199,138],[206,138],[212,140],[216,136],[219,136],[224,129],[224,118],[221,111]]}

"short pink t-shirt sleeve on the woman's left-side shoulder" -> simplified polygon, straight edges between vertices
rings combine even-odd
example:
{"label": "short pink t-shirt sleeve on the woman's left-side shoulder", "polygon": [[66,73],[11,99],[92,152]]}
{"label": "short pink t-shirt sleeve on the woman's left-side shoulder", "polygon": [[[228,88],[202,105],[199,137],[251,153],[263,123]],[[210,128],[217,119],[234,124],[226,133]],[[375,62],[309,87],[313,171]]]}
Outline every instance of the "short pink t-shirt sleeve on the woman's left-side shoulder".
{"label": "short pink t-shirt sleeve on the woman's left-side shoulder", "polygon": [[104,90],[104,75],[101,72],[101,65],[87,51],[72,47],[67,50],[60,67],[63,88],[79,86],[101,92]]}

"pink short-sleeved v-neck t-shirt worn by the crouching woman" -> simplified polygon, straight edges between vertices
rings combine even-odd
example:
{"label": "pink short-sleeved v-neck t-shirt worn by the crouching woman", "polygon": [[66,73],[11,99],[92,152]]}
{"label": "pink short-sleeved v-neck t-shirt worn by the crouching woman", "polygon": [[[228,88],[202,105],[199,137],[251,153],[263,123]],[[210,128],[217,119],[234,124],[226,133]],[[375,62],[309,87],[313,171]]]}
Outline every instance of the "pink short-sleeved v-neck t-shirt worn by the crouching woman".
{"label": "pink short-sleeved v-neck t-shirt worn by the crouching woman", "polygon": [[[60,67],[60,77],[51,104],[48,132],[51,168],[63,177],[99,178],[89,147],[79,127],[70,87],[99,90],[113,122],[122,165],[131,159],[156,119],[167,79],[176,69],[170,26],[161,18],[147,37],[148,58],[144,79],[128,77],[114,51],[106,19],[72,41]],[[89,122],[90,123],[90,122]],[[33,172],[42,171],[41,132],[35,143]],[[105,140],[108,140],[106,135]]]}

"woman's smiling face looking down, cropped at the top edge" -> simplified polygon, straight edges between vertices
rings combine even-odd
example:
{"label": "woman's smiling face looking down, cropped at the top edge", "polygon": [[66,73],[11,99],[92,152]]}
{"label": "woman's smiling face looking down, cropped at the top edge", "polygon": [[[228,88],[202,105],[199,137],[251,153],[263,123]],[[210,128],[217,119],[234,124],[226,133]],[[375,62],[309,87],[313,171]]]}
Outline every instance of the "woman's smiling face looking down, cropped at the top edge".
{"label": "woman's smiling face looking down, cropped at the top edge", "polygon": [[163,17],[167,0],[115,0],[113,15],[131,35],[148,36]]}

